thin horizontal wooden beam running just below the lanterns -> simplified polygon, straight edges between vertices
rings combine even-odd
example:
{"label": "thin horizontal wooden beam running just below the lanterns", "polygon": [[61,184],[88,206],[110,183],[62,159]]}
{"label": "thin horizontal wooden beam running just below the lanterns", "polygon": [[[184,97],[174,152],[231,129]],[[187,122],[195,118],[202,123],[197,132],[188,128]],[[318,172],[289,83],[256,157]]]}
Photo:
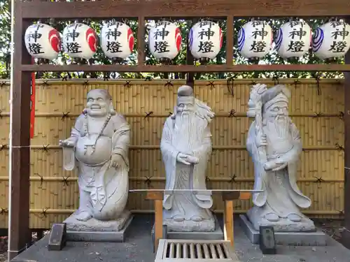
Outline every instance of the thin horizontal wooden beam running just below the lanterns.
{"label": "thin horizontal wooden beam running just below the lanterns", "polygon": [[350,71],[350,64],[237,64],[230,66],[221,65],[179,65],[179,66],[125,66],[118,64],[109,65],[22,65],[22,71],[40,72],[118,72],[118,73],[219,73],[219,72],[248,72],[248,71]]}

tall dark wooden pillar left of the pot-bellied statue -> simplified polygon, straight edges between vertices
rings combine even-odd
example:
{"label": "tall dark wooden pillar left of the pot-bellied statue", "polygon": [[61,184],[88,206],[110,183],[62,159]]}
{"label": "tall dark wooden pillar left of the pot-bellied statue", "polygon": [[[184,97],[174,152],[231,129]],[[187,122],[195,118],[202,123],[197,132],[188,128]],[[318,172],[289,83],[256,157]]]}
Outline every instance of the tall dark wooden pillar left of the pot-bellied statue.
{"label": "tall dark wooden pillar left of the pot-bellied statue", "polygon": [[31,242],[29,231],[30,174],[30,72],[22,72],[21,64],[31,64],[23,35],[30,23],[22,21],[20,1],[15,1],[15,26],[12,80],[13,121],[10,124],[12,143],[10,170],[8,258],[13,259]]}

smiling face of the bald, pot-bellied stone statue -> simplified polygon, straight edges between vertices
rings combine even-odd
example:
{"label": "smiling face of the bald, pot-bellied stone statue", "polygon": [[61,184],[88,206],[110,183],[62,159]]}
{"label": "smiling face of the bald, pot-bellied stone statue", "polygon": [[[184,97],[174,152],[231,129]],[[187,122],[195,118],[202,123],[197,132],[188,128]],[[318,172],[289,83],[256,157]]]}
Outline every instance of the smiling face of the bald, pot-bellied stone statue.
{"label": "smiling face of the bald, pot-bellied stone statue", "polygon": [[101,90],[92,90],[87,94],[87,115],[91,117],[104,117],[109,112],[109,97]]}

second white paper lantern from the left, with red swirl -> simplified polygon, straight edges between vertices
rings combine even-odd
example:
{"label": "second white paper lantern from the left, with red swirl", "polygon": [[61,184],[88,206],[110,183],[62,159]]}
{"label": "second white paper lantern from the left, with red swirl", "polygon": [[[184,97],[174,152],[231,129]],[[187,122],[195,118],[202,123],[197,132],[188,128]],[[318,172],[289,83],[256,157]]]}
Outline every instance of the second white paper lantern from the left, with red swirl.
{"label": "second white paper lantern from the left, with red swirl", "polygon": [[90,59],[97,51],[97,35],[87,24],[75,22],[64,28],[62,44],[69,57]]}

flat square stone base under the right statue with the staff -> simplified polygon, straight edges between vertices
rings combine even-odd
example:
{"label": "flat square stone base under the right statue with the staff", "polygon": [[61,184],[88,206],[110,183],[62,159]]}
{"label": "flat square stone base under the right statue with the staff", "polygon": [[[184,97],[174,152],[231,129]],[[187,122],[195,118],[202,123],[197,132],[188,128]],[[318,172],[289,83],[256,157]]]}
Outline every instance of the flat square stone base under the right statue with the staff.
{"label": "flat square stone base under the right statue with the staff", "polygon": [[[249,240],[259,244],[259,231],[256,231],[245,214],[239,216],[239,224]],[[276,245],[287,246],[326,246],[328,235],[320,230],[314,232],[275,232]]]}

